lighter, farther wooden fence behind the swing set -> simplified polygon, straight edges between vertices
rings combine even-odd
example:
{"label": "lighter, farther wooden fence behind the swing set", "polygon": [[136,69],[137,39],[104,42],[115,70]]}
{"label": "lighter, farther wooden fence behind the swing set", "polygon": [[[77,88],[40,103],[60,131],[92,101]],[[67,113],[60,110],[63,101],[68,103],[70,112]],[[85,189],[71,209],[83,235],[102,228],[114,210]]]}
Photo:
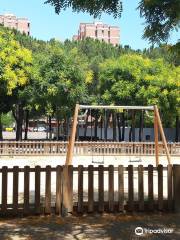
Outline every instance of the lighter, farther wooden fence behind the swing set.
{"label": "lighter, farther wooden fence behind the swing set", "polygon": [[[48,141],[1,141],[1,156],[66,155],[67,142]],[[168,143],[171,155],[180,156],[180,143]],[[74,155],[154,155],[153,142],[76,142]],[[159,143],[159,154],[165,155],[163,144]]]}

